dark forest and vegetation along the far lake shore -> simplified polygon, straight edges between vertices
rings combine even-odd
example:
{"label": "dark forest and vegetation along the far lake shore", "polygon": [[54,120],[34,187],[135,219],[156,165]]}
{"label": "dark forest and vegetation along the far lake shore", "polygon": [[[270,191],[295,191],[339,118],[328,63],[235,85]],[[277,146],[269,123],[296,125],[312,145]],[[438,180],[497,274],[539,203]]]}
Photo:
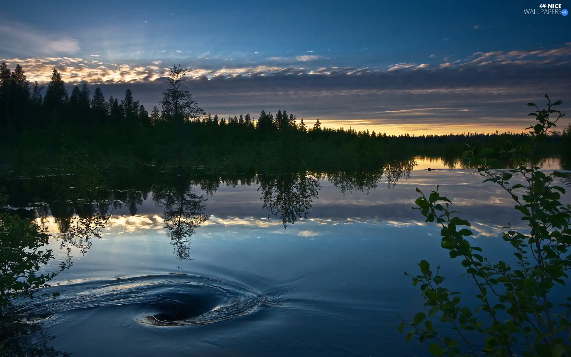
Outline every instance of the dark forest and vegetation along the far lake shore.
{"label": "dark forest and vegetation along the far lake shore", "polygon": [[[415,156],[460,158],[466,145],[506,149],[520,145],[526,133],[387,135],[332,129],[319,119],[307,123],[286,110],[262,110],[219,118],[199,106],[186,88],[186,70],[171,68],[158,107],[147,109],[127,89],[123,99],[106,99],[85,83],[67,94],[54,69],[45,95],[27,81],[21,66],[0,66],[0,167],[56,167],[62,151],[82,153],[92,165],[124,167],[199,166],[244,172],[339,169],[383,166],[391,159]],[[571,127],[571,126],[570,126]],[[570,127],[548,135],[538,156],[561,156],[571,167]],[[84,155],[85,154],[85,155]],[[73,155],[72,155],[73,156]]]}

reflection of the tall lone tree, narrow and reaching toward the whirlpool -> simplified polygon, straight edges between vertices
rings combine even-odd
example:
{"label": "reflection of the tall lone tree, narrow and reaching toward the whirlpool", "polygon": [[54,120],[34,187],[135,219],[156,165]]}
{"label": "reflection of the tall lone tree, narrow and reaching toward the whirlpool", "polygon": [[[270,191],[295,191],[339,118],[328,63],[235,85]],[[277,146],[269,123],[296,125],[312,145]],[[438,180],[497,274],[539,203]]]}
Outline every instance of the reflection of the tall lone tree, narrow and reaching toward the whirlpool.
{"label": "reflection of the tall lone tree, narrow and reaching toward the whirlpool", "polygon": [[183,174],[176,177],[172,186],[155,187],[153,198],[164,208],[164,228],[174,246],[178,259],[190,258],[190,239],[208,216],[207,198],[190,184]]}

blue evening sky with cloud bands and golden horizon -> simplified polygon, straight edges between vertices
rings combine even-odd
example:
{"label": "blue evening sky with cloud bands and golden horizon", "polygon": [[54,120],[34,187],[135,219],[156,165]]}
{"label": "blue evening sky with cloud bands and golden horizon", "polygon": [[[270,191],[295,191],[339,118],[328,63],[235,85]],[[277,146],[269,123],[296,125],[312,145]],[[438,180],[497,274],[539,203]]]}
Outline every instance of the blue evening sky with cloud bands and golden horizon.
{"label": "blue evening sky with cloud bands and golden horizon", "polygon": [[519,132],[526,103],[545,94],[571,108],[571,16],[562,15],[571,2],[541,5],[8,0],[0,61],[40,83],[57,67],[70,88],[87,82],[106,97],[130,88],[149,111],[180,63],[213,115],[285,109],[387,134]]}

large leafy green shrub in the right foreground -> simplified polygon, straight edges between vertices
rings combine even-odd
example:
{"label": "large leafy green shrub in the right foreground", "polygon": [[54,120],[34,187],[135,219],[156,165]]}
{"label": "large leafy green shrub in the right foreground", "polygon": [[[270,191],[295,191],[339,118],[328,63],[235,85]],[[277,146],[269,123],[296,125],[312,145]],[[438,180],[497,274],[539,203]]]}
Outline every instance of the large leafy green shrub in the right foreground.
{"label": "large leafy green shrub in the right foreground", "polygon": [[[429,310],[428,318],[419,312],[411,322],[403,322],[399,331],[408,326],[407,340],[413,335],[418,335],[420,342],[435,340],[428,347],[433,356],[571,356],[571,296],[553,292],[557,286],[565,286],[571,268],[571,205],[560,202],[565,189],[554,185],[556,178],[566,174],[540,171],[535,155],[540,141],[564,115],[552,109],[560,104],[549,101],[545,110],[528,104],[536,108],[529,115],[538,122],[526,128],[530,129],[528,143],[500,153],[490,148],[471,148],[464,153],[469,163],[478,166],[484,182],[498,184],[514,200],[514,208],[529,227],[523,232],[511,225],[504,227],[502,238],[513,246],[515,264],[492,263],[481,248],[472,246],[467,239],[473,235],[470,222],[451,211],[451,200],[441,196],[438,187],[428,197],[416,189],[422,196],[415,208],[427,222],[440,224],[441,246],[449,250],[451,258],[461,259],[464,275],[475,283],[480,303],[476,308],[463,306],[460,292],[443,286],[440,267],[433,272],[426,260],[419,263],[420,275],[405,273],[414,286],[420,284]],[[550,118],[552,114],[557,118]],[[490,170],[501,156],[508,157],[514,169]],[[515,175],[523,177],[525,184],[510,183]],[[452,325],[462,346],[456,338],[440,334],[430,320],[434,316]],[[476,342],[474,332],[480,334]]]}

